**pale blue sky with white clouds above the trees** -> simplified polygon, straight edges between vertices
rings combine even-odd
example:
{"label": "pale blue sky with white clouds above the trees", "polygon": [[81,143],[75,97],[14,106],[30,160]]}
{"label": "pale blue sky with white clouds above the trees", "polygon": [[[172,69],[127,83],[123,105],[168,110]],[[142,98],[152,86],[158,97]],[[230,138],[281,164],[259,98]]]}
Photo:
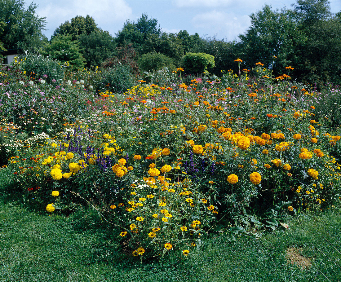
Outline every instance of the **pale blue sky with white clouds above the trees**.
{"label": "pale blue sky with white clouds above the trees", "polygon": [[[26,4],[29,4],[27,1]],[[284,0],[36,0],[36,12],[46,17],[44,34],[50,39],[54,30],[66,20],[89,14],[98,27],[115,36],[127,19],[136,21],[142,13],[156,18],[162,31],[187,30],[201,37],[225,41],[238,40],[250,26],[252,13],[265,4],[273,10],[290,9],[296,1]],[[332,13],[341,11],[341,0],[330,0]]]}

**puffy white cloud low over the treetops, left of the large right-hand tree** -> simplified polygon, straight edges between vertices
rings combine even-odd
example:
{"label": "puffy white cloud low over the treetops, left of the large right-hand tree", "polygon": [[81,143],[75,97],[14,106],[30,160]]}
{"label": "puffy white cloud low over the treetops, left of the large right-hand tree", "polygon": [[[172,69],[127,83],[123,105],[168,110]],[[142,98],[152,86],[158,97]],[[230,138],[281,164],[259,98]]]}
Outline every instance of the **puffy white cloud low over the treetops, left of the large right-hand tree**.
{"label": "puffy white cloud low over the treetops, left of the large right-hand tree", "polygon": [[250,26],[250,17],[213,10],[195,15],[191,23],[201,33],[214,34],[218,40],[232,41]]}

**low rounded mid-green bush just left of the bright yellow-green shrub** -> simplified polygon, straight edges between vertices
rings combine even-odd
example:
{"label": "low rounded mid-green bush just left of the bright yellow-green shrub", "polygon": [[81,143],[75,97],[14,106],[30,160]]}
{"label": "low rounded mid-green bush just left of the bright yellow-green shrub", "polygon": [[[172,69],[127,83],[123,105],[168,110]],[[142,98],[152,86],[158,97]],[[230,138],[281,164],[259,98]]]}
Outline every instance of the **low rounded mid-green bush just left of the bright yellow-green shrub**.
{"label": "low rounded mid-green bush just left of the bright yellow-green shrub", "polygon": [[169,70],[175,70],[173,60],[164,54],[150,52],[141,56],[139,66],[142,71],[157,71],[163,67]]}

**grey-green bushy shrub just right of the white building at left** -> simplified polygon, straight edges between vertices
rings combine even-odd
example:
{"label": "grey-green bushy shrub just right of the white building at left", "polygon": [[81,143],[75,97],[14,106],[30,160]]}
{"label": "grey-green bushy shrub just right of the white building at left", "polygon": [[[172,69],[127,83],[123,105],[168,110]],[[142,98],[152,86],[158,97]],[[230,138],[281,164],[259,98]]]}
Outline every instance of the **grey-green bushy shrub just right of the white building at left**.
{"label": "grey-green bushy shrub just right of the white building at left", "polygon": [[35,79],[42,78],[48,83],[51,83],[53,79],[55,79],[55,82],[60,82],[64,78],[65,66],[58,60],[42,55],[26,55],[20,66],[26,72],[28,78],[34,74]]}

